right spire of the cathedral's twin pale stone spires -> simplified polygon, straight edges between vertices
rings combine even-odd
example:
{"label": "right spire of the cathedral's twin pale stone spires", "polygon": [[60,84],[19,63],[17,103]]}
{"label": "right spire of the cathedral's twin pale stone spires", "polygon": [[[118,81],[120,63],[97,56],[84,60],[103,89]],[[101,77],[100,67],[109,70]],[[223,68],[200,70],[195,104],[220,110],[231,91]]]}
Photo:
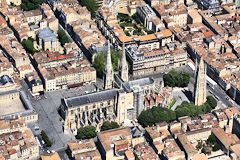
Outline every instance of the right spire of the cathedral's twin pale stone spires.
{"label": "right spire of the cathedral's twin pale stone spires", "polygon": [[123,43],[122,47],[122,58],[120,64],[120,76],[124,82],[128,81],[128,64],[126,60],[126,51],[125,51],[125,43]]}

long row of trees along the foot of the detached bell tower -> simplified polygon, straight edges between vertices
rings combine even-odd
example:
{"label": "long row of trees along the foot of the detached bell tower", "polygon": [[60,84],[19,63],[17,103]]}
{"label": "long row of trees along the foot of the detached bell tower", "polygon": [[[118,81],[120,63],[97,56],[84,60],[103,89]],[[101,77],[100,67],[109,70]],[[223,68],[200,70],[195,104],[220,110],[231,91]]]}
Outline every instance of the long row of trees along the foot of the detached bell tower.
{"label": "long row of trees along the foot of the detached bell tower", "polygon": [[193,103],[183,102],[175,111],[168,108],[153,107],[149,110],[142,111],[138,117],[138,122],[144,127],[152,126],[163,121],[173,121],[183,116],[194,117],[200,114],[205,114],[210,112],[216,106],[217,101],[213,97],[209,96],[207,97],[206,103],[202,106],[196,106]]}

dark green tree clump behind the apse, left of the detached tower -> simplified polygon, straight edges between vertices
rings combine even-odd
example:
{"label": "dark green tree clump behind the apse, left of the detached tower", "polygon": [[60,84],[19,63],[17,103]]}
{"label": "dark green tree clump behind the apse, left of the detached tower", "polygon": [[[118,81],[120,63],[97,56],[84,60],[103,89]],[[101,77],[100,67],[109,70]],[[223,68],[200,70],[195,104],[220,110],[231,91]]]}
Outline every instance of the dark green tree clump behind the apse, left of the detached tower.
{"label": "dark green tree clump behind the apse, left of the detached tower", "polygon": [[163,75],[164,84],[170,87],[186,87],[190,81],[190,75],[186,72],[179,72],[172,69]]}

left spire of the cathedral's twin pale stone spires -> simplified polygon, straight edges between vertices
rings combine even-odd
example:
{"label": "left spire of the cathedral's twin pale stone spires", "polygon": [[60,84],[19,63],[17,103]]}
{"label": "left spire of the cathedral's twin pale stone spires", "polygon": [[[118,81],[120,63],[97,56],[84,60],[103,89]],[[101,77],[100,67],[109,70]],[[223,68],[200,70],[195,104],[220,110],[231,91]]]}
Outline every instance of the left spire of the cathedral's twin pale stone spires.
{"label": "left spire of the cathedral's twin pale stone spires", "polygon": [[108,40],[107,61],[105,65],[104,89],[111,89],[113,87],[113,69],[110,51],[110,42]]}

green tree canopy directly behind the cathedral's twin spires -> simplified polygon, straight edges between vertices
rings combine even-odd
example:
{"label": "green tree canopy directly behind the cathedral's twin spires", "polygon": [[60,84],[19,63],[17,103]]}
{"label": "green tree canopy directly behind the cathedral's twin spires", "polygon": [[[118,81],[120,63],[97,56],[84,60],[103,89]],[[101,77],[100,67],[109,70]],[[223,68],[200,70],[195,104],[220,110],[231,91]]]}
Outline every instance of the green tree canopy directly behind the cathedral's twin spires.
{"label": "green tree canopy directly behind the cathedral's twin spires", "polygon": [[[97,53],[94,56],[93,67],[96,69],[97,76],[100,78],[103,77],[103,72],[106,64],[106,56],[107,56],[106,52]],[[121,54],[119,53],[119,51],[111,50],[112,66],[114,71],[118,70],[118,64],[119,64],[120,58],[121,58]]]}

